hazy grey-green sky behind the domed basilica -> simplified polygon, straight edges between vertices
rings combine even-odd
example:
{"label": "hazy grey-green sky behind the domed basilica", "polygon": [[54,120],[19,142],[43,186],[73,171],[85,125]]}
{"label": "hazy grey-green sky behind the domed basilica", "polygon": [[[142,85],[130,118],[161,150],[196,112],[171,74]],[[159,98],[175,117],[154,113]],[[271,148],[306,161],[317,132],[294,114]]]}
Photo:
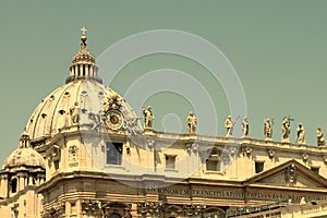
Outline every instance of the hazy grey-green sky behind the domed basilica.
{"label": "hazy grey-green sky behind the domed basilica", "polygon": [[[88,29],[88,49],[97,57],[122,39],[149,31],[179,31],[210,43],[223,53],[225,61],[232,65],[240,80],[251,137],[264,138],[263,120],[271,118],[275,120],[272,138],[280,141],[281,119],[291,116],[294,118],[291,142],[295,140],[298,123],[302,122],[307,144],[315,146],[316,128],[327,131],[326,9],[327,1],[323,0],[1,0],[0,161],[19,146],[20,135],[41,99],[64,84],[71,57],[80,47],[82,26]],[[123,56],[132,51],[133,48],[116,52]],[[214,56],[207,57],[210,58],[215,61]],[[111,64],[110,60],[106,61]],[[217,64],[223,63],[217,60]],[[165,75],[165,72],[160,74],[165,69],[183,72],[185,80],[179,81],[181,89],[171,89],[169,76],[165,81],[146,77],[150,76],[149,72]],[[110,83],[107,73],[114,75]],[[186,116],[194,110],[202,113],[196,113],[201,134],[211,134],[215,128],[218,136],[226,134],[223,121],[230,114],[227,97],[230,93],[225,87],[233,85],[221,84],[196,60],[158,52],[130,60],[117,72],[106,72],[105,68],[101,76],[105,85],[122,96],[129,88],[137,87],[135,82],[144,76],[149,82],[145,87],[157,87],[149,96],[134,92],[142,106],[153,106],[155,130],[186,132]],[[204,122],[206,107],[214,108],[215,114],[210,116],[218,120],[217,126]],[[142,116],[141,108],[133,109]],[[244,114],[234,114],[235,129],[240,129],[237,116]]]}

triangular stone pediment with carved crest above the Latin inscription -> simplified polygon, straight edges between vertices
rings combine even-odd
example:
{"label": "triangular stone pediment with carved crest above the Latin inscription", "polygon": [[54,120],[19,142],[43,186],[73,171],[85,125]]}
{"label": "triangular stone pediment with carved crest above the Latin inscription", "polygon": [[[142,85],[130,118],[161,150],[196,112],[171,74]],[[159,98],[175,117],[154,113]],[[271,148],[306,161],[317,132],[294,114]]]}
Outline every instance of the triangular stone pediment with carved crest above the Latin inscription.
{"label": "triangular stone pediment with carved crest above the Latin inscription", "polygon": [[245,184],[322,189],[327,187],[327,180],[293,159],[247,179]]}

